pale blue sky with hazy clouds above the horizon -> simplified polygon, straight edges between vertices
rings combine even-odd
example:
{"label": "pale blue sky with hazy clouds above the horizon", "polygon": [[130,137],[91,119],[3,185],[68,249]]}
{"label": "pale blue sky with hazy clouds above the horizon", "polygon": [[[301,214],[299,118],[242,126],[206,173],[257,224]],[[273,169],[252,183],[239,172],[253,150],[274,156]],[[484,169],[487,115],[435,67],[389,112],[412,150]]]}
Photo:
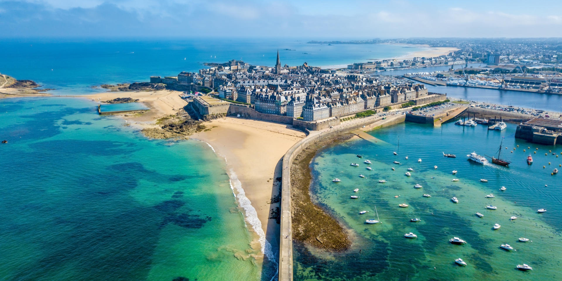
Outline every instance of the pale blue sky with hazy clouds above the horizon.
{"label": "pale blue sky with hazy clouds above the horizon", "polygon": [[0,38],[562,37],[560,11],[560,0],[0,0]]}

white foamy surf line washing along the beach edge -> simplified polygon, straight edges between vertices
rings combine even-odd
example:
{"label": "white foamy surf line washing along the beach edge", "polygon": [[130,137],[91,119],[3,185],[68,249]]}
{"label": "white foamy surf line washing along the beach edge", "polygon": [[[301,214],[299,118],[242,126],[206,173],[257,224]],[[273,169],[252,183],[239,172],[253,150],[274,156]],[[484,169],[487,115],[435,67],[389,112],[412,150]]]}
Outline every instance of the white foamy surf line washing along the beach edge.
{"label": "white foamy surf line washing along the beach edge", "polygon": [[[216,153],[215,148],[213,148],[211,144],[200,139],[193,139],[193,140],[198,140],[200,142],[206,143],[207,146],[209,146],[212,149],[212,151],[215,152],[216,155],[219,155],[218,153]],[[224,158],[225,162],[228,162],[228,160],[226,160],[226,157],[224,157],[223,155],[221,155],[221,157]],[[232,189],[232,194],[234,195],[234,198],[236,198],[236,201],[238,202],[238,206],[240,206],[242,210],[244,210],[245,221],[252,226],[253,231],[259,237],[261,252],[275,266],[275,270],[273,271],[274,274],[270,279],[270,281],[273,281],[275,278],[277,278],[277,271],[279,269],[279,263],[275,258],[277,255],[273,253],[273,247],[271,246],[271,243],[269,243],[269,241],[265,238],[265,232],[264,229],[261,228],[261,221],[257,217],[257,211],[252,206],[252,202],[250,202],[250,199],[246,197],[246,192],[244,192],[244,189],[242,188],[242,183],[238,179],[238,175],[234,172],[232,168],[227,169],[226,174],[228,174],[228,178],[229,178],[228,181],[230,183],[230,189]]]}

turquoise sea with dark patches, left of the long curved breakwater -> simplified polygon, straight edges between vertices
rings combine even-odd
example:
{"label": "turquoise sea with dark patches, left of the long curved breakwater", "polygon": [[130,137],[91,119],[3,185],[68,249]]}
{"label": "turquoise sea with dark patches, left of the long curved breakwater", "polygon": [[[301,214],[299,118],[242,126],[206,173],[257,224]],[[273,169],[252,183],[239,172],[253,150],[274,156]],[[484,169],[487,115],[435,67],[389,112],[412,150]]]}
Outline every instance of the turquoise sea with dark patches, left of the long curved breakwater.
{"label": "turquoise sea with dark patches, left of the long curved breakwater", "polygon": [[224,160],[94,108],[0,100],[0,279],[259,280]]}

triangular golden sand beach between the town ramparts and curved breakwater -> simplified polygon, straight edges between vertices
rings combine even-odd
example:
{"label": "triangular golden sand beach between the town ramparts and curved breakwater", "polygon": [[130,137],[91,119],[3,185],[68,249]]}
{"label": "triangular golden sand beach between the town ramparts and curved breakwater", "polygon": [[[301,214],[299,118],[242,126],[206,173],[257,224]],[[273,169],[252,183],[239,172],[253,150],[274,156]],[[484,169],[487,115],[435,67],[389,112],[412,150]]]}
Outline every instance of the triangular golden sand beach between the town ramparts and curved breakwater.
{"label": "triangular golden sand beach between the town ramparts and curved breakwater", "polygon": [[[279,207],[279,203],[270,202],[279,194],[280,181],[277,178],[281,176],[283,155],[305,134],[290,125],[235,117],[213,120],[205,125],[211,130],[194,134],[191,138],[209,143],[218,155],[226,159],[226,169],[235,173],[257,212],[264,232],[261,235],[265,234],[271,244],[278,245],[279,224],[268,217],[271,210]],[[232,180],[234,176],[229,175]],[[247,217],[248,220],[252,223],[251,217]]]}

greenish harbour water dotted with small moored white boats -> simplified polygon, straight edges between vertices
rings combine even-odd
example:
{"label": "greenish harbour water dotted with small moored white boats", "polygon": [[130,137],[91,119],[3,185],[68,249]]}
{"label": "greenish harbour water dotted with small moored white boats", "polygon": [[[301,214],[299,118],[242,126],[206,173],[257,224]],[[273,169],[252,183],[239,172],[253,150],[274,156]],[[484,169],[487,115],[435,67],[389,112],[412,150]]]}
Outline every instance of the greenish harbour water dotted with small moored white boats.
{"label": "greenish harbour water dotted with small moored white boats", "polygon": [[[406,123],[370,132],[379,139],[377,142],[351,140],[319,152],[311,164],[314,176],[311,192],[352,230],[353,246],[346,253],[328,255],[297,244],[295,280],[559,279],[562,180],[560,174],[550,173],[555,167],[560,169],[562,147],[515,139],[515,128],[515,124],[508,124],[507,129],[498,132],[488,131],[482,125],[467,128],[449,123],[434,128]],[[510,167],[479,165],[467,159],[466,155],[473,151],[494,155],[502,137],[505,137],[504,147],[508,148],[502,149],[502,157],[513,161]],[[559,157],[551,155],[549,150],[559,153]],[[395,151],[398,156],[393,155]],[[457,157],[446,158],[442,152]],[[356,157],[358,153],[364,156],[362,160]],[[532,165],[525,162],[529,153],[534,158]],[[409,159],[405,160],[405,156]],[[373,171],[365,169],[367,165],[362,164],[365,159],[373,162],[370,165]],[[352,167],[349,165],[352,162],[361,164]],[[414,169],[411,177],[404,175],[408,167]],[[452,175],[452,170],[458,173]],[[360,178],[359,174],[366,178]],[[342,182],[332,183],[333,178]],[[460,181],[451,182],[454,178]],[[380,179],[387,183],[378,183]],[[488,182],[482,183],[480,179]],[[415,189],[415,184],[423,188]],[[502,186],[507,188],[505,192],[498,190]],[[360,191],[354,193],[355,188]],[[489,193],[496,197],[485,198]],[[360,198],[350,199],[353,194]],[[450,201],[454,196],[459,198],[459,203]],[[400,203],[410,206],[400,208]],[[488,204],[498,209],[485,209]],[[377,218],[375,206],[382,224],[367,225],[365,219]],[[540,208],[549,211],[537,214]],[[359,215],[362,210],[369,212]],[[475,212],[481,212],[484,217],[476,216]],[[518,219],[511,221],[511,216]],[[410,223],[414,217],[421,221]],[[492,230],[495,223],[501,228]],[[405,238],[404,234],[409,232],[418,238]],[[463,246],[449,243],[448,239],[455,236],[467,243]],[[532,242],[518,242],[519,237]],[[502,250],[500,245],[504,243],[516,251]],[[455,265],[457,258],[465,260],[468,266]],[[515,269],[523,263],[531,265],[533,270]]]}

